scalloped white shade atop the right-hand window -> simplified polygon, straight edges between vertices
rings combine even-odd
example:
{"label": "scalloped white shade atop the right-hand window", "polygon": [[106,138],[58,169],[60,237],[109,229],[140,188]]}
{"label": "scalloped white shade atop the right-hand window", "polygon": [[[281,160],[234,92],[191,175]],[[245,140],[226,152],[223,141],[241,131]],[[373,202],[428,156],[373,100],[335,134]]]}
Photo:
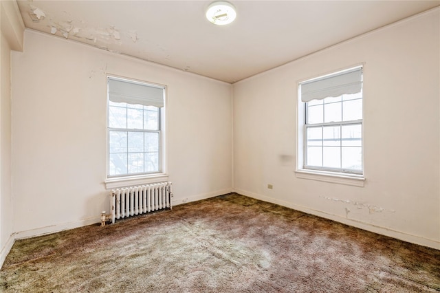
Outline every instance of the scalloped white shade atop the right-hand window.
{"label": "scalloped white shade atop the right-hand window", "polygon": [[362,67],[301,83],[301,100],[322,100],[343,94],[356,94],[362,89]]}

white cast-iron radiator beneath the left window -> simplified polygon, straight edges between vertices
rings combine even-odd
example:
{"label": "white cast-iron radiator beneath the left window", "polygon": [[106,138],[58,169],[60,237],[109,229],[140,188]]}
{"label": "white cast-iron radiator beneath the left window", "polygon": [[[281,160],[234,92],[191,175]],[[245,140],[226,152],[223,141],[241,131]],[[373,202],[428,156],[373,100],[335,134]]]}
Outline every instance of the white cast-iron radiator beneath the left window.
{"label": "white cast-iron radiator beneath the left window", "polygon": [[115,219],[172,208],[171,182],[117,188],[111,191],[111,223]]}

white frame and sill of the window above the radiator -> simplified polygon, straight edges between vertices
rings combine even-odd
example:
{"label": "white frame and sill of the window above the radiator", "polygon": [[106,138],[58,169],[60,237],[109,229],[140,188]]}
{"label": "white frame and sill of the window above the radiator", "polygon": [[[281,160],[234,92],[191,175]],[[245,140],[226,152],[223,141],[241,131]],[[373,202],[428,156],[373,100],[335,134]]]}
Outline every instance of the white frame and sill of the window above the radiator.
{"label": "white frame and sill of the window above the radiator", "polygon": [[[124,78],[115,75],[107,76],[107,85],[109,78],[115,80],[121,80],[127,83],[137,83],[141,85],[147,85],[149,87],[157,87],[163,89],[164,91],[164,107],[159,107],[159,130],[153,132],[159,132],[159,171],[154,173],[141,173],[141,174],[123,174],[123,175],[109,175],[109,96],[108,87],[107,89],[107,115],[106,115],[106,180],[104,184],[107,189],[120,188],[124,186],[133,186],[141,184],[149,184],[155,182],[168,181],[168,174],[166,173],[166,85],[159,85],[157,83],[146,82],[142,80],[135,80],[133,78]],[[131,129],[130,129],[131,130]],[[147,131],[149,132],[149,131]]]}

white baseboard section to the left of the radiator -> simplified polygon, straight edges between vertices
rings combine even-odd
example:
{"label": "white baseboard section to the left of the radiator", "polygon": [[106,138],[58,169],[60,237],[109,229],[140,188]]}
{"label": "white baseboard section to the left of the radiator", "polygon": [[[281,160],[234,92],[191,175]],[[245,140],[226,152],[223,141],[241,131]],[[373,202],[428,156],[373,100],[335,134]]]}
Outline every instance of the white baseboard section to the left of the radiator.
{"label": "white baseboard section to the left of the radiator", "polygon": [[89,219],[82,219],[79,221],[72,221],[69,223],[55,224],[55,225],[36,228],[32,230],[14,232],[12,236],[14,237],[14,239],[25,239],[25,238],[36,237],[46,234],[52,234],[64,230],[70,230],[78,227],[88,226],[88,225],[100,223],[100,221],[101,221],[100,217],[91,217]]}

